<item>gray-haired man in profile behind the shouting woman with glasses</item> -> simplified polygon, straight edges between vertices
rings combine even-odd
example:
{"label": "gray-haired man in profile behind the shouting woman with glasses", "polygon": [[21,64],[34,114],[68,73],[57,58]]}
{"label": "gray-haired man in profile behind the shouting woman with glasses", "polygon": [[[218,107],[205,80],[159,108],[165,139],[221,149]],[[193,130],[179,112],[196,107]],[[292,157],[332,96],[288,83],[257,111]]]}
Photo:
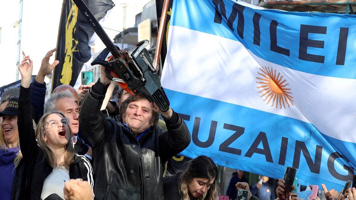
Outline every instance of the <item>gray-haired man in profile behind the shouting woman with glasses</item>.
{"label": "gray-haired man in profile behind the shouting woman with glasses", "polygon": [[79,107],[73,99],[73,95],[69,90],[53,93],[48,99],[44,112],[60,111],[69,119],[69,128],[72,131],[72,140],[74,150],[81,155],[91,159],[91,148],[85,145],[80,138],[77,137],[79,132]]}

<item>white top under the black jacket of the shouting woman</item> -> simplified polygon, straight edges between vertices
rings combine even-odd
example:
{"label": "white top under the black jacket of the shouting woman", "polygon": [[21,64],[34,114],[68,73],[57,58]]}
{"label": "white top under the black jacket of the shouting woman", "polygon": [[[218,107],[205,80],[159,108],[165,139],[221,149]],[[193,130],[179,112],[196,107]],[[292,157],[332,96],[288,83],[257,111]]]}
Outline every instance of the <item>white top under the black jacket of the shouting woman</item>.
{"label": "white top under the black jacket of the shouting woman", "polygon": [[51,174],[43,182],[41,199],[46,199],[47,196],[53,193],[64,199],[64,183],[69,180],[69,170],[60,166],[53,168]]}

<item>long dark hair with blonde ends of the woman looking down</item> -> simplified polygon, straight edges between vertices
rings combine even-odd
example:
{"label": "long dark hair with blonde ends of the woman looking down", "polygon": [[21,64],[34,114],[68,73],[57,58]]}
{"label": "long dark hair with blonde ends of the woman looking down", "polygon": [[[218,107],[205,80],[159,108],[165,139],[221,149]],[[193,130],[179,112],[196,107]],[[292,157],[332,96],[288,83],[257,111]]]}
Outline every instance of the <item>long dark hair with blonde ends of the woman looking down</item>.
{"label": "long dark hair with blonde ends of the woman looking down", "polygon": [[216,197],[219,195],[219,186],[216,181],[216,178],[218,178],[218,168],[216,167],[214,161],[207,156],[198,156],[187,163],[188,168],[177,174],[179,176],[178,189],[180,200],[189,200],[188,185],[194,178],[208,179],[208,183],[215,178],[208,191],[206,191],[206,193],[201,195],[199,198],[195,199],[216,200]]}

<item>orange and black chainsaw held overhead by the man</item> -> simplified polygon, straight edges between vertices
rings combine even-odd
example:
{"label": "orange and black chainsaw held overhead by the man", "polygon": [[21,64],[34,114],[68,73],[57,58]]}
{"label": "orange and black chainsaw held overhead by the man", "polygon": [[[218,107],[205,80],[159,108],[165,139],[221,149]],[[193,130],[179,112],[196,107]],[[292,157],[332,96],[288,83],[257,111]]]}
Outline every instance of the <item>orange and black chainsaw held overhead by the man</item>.
{"label": "orange and black chainsaw held overhead by the man", "polygon": [[[143,95],[156,103],[166,112],[169,101],[161,86],[159,76],[152,65],[152,60],[145,48],[148,40],[143,40],[125,49],[115,46],[103,27],[95,19],[83,0],[73,0],[106,48],[91,62],[91,65],[103,65],[108,79],[117,81],[119,86],[131,95]],[[111,53],[111,56],[109,56]],[[108,57],[109,56],[109,57]]]}

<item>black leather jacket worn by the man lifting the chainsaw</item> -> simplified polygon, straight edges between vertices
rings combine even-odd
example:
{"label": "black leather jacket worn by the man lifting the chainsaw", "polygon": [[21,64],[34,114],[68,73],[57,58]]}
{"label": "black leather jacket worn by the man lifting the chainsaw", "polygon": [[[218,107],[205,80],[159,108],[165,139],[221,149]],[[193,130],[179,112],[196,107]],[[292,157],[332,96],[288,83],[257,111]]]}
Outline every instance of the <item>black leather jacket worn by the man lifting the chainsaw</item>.
{"label": "black leather jacket worn by the man lifting the chainsaw", "polygon": [[79,115],[84,137],[93,148],[95,199],[163,199],[165,162],[190,143],[182,118],[173,112],[168,131],[152,126],[139,141],[100,112],[106,89],[98,81],[85,96]]}

